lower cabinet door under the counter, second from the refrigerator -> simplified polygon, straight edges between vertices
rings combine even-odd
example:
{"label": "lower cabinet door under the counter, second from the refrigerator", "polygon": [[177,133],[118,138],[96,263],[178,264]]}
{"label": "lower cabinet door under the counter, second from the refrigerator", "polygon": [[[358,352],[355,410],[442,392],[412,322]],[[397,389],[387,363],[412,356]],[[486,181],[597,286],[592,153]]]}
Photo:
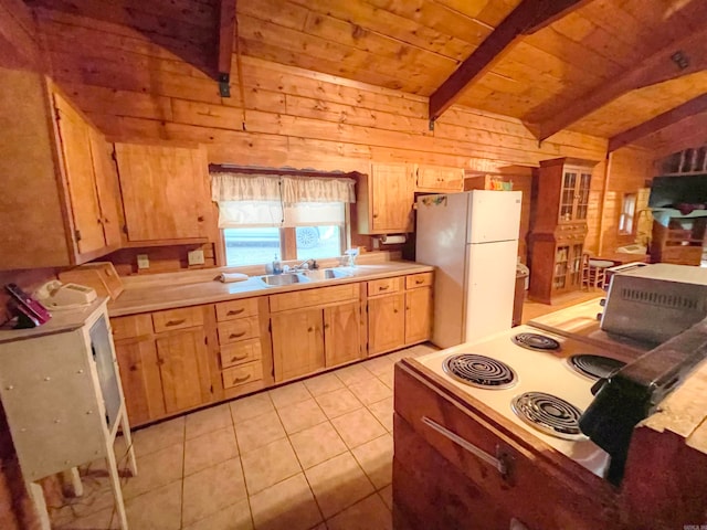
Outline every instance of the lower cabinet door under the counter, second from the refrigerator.
{"label": "lower cabinet door under the counter, second from the refrigerator", "polygon": [[368,300],[369,354],[383,353],[405,343],[404,293]]}

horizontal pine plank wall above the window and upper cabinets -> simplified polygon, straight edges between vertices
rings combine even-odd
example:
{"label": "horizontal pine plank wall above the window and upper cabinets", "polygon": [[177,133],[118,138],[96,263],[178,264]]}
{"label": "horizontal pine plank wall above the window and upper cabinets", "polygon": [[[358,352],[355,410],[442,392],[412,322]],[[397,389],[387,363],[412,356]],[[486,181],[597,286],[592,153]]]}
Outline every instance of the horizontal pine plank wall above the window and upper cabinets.
{"label": "horizontal pine plank wall above the window and upper cabinets", "polygon": [[[144,9],[122,1],[137,12]],[[538,145],[517,119],[460,106],[430,130],[424,97],[247,56],[243,80],[234,78],[232,97],[222,98],[205,73],[213,51],[203,40],[181,40],[177,49],[163,34],[169,26],[160,25],[160,40],[150,40],[136,23],[81,14],[88,11],[86,3],[78,2],[72,13],[38,9],[40,29],[53,76],[116,140],[199,141],[207,144],[211,162],[361,172],[371,161],[497,171],[563,156],[605,157],[605,139],[562,131]],[[173,36],[176,42],[179,35]],[[199,62],[182,59],[200,53]],[[244,119],[239,81],[245,87]],[[594,247],[603,180],[599,163],[588,240]]]}

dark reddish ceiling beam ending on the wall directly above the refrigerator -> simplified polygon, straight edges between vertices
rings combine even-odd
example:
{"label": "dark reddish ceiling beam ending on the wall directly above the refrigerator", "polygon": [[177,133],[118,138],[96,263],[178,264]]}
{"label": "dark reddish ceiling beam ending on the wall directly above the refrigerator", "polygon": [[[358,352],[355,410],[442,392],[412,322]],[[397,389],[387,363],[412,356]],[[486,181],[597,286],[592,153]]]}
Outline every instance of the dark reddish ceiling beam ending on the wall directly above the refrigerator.
{"label": "dark reddish ceiling beam ending on the wall directly above the refrigerator", "polygon": [[430,120],[437,119],[462,92],[524,34],[531,34],[590,0],[523,0],[430,96]]}

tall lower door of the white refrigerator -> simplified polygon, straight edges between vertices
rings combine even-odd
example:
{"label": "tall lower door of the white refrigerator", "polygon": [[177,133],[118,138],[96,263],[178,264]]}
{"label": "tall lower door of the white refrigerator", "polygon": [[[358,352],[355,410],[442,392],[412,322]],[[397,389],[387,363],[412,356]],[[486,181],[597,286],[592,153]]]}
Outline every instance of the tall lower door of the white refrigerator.
{"label": "tall lower door of the white refrigerator", "polygon": [[477,243],[466,245],[466,248],[468,268],[463,341],[475,342],[511,327],[518,241]]}

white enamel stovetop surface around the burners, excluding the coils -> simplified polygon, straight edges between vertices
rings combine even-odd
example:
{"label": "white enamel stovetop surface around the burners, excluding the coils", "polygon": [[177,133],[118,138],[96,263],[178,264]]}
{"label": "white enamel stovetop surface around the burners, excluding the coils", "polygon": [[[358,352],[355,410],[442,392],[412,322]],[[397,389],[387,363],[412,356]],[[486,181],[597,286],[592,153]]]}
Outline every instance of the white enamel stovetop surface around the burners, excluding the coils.
{"label": "white enamel stovetop surface around the burners, excluding the coils", "polygon": [[[559,350],[535,350],[518,346],[513,340],[518,333],[540,333],[548,339],[557,341]],[[451,356],[461,353],[483,356],[500,361],[515,372],[516,379],[510,385],[472,386],[462,379],[450,375],[445,370],[445,360]],[[559,398],[583,412],[593,400],[591,393],[593,381],[587,375],[578,373],[569,362],[570,357],[582,353],[615,357],[598,346],[561,337],[530,326],[518,326],[473,344],[460,344],[420,357],[418,361],[441,375],[449,384],[481,401],[496,413],[510,420],[595,475],[604,476],[609,464],[609,455],[581,433],[579,436],[574,433],[573,436],[566,435],[562,437],[558,437],[560,433],[556,435],[546,434],[537,426],[530,425],[527,418],[524,420],[514,412],[514,403],[517,409],[527,406],[527,400],[518,399],[525,399],[526,396],[523,394],[529,392],[539,392]],[[484,367],[482,365],[482,368]],[[561,409],[564,411],[564,405]],[[555,406],[549,410],[552,413],[558,412]],[[570,412],[569,409],[567,409],[567,412]]]}

